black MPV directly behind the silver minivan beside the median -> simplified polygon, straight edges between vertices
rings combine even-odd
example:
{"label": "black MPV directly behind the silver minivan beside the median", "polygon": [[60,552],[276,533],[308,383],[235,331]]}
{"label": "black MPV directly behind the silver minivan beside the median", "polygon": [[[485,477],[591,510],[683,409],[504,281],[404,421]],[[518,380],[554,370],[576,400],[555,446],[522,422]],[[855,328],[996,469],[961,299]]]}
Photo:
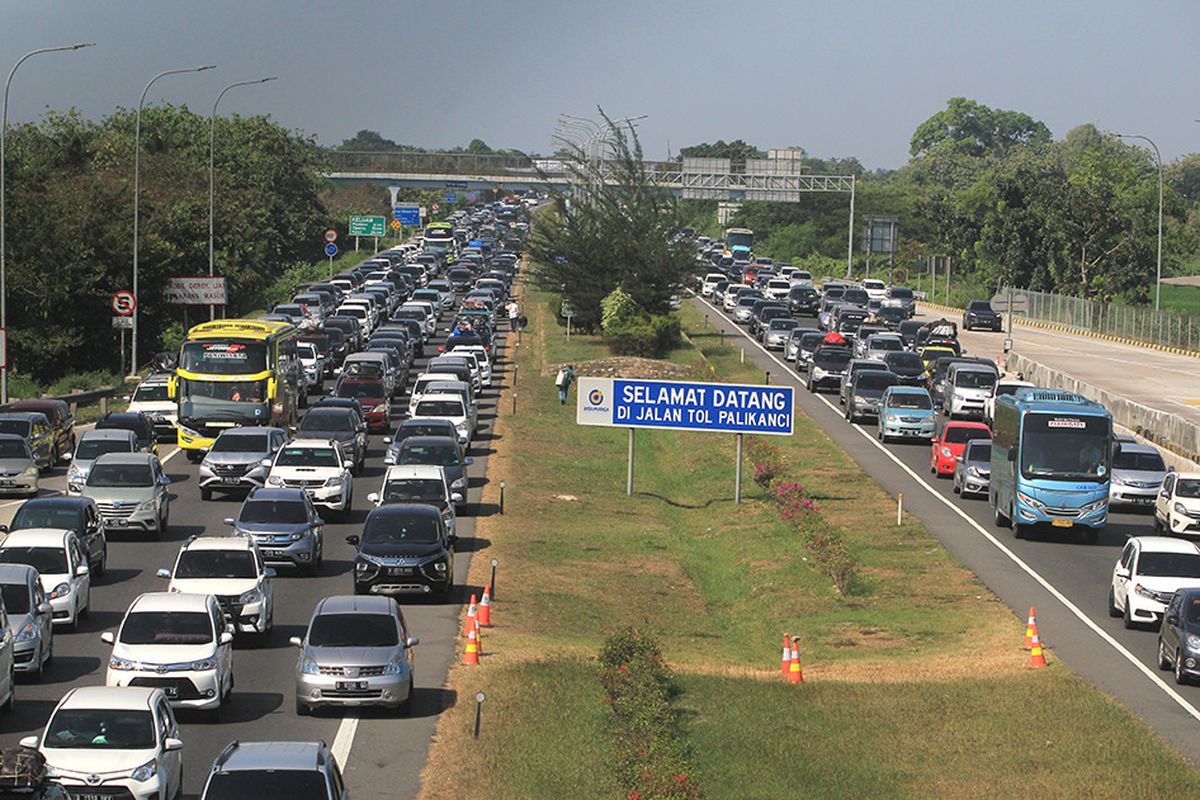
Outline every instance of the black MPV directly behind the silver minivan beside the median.
{"label": "black MPV directly behind the silver minivan beside the median", "polygon": [[367,515],[354,554],[354,594],[427,595],[454,590],[454,547],[442,512],[425,503],[395,503]]}

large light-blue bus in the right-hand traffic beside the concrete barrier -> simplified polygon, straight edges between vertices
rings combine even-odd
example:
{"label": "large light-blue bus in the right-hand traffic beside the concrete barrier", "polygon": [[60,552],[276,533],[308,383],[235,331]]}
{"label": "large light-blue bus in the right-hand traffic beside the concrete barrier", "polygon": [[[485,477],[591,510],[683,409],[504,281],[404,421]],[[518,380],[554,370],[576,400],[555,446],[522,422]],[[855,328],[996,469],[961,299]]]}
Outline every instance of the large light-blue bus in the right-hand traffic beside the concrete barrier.
{"label": "large light-blue bus in the right-hand traffic beside the concrete barrier", "polygon": [[1112,415],[1074,392],[1020,389],[996,398],[988,501],[1024,539],[1073,528],[1093,543],[1109,519]]}

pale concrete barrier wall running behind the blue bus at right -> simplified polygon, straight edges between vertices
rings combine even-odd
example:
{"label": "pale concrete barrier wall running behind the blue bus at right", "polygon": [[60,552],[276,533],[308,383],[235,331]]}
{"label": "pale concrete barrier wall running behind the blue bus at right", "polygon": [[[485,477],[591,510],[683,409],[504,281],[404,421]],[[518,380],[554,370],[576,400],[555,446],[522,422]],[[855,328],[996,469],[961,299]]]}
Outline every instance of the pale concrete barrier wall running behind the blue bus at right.
{"label": "pale concrete barrier wall running behind the blue bus at right", "polygon": [[1020,373],[1028,381],[1046,389],[1076,392],[1102,403],[1112,413],[1112,421],[1139,440],[1163,451],[1163,461],[1180,471],[1200,470],[1200,427],[1174,414],[1134,403],[1106,389],[1093,386],[1058,369],[1028,359],[1020,353],[1008,354],[1008,372]]}

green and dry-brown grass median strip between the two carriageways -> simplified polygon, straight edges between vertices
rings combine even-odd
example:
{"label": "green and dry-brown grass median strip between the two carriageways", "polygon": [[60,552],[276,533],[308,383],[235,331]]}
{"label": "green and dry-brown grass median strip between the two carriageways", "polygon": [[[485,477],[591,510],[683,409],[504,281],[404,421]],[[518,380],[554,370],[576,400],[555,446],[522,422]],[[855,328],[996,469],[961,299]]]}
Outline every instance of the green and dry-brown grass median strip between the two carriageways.
{"label": "green and dry-brown grass median strip between the two carriageways", "polygon": [[[1200,789],[1114,702],[1062,667],[1030,673],[1024,621],[919,524],[896,527],[892,498],[810,420],[770,444],[856,559],[845,595],[749,468],[745,501],[733,505],[732,437],[640,432],[626,498],[625,432],[577,427],[553,386],[559,363],[587,374],[608,354],[593,337],[568,342],[553,307],[529,291],[530,326],[510,349],[521,402],[515,416],[500,403],[485,489],[494,503],[506,481],[506,513],[479,521],[491,543],[473,565],[480,584],[500,561],[496,627],[482,664],[451,673],[462,699],[439,721],[422,796],[464,786],[464,796],[622,796],[596,652],[626,626],[662,645],[682,688],[677,728],[710,798],[881,786],[965,798],[1015,794],[1031,780],[1066,796]],[[673,363],[762,381],[700,314],[685,308],[683,319]],[[800,637],[802,686],[781,682],[784,632]],[[479,690],[488,699],[476,741],[466,698]]]}

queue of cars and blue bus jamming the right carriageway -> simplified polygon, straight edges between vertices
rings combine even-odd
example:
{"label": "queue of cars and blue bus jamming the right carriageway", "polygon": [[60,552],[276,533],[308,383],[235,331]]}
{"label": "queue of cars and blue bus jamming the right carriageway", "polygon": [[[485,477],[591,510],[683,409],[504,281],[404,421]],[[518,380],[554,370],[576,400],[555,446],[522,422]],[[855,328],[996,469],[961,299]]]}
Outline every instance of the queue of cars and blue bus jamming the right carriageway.
{"label": "queue of cars and blue bus jamming the right carriageway", "polygon": [[1118,513],[1133,535],[1096,602],[1127,628],[1157,632],[1158,667],[1177,684],[1200,682],[1200,473],[1168,468],[1153,445],[1115,432],[1102,404],[970,355],[960,331],[1003,331],[989,300],[959,319],[914,319],[922,297],[911,288],[818,284],[755,257],[749,230],[695,245],[695,289],[709,308],[847,423],[949,481],[960,503],[985,503],[995,529],[1090,545]]}

